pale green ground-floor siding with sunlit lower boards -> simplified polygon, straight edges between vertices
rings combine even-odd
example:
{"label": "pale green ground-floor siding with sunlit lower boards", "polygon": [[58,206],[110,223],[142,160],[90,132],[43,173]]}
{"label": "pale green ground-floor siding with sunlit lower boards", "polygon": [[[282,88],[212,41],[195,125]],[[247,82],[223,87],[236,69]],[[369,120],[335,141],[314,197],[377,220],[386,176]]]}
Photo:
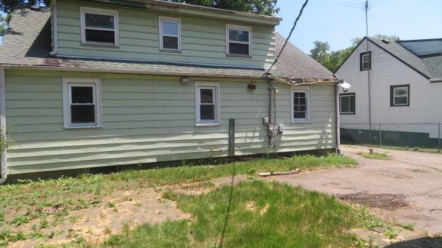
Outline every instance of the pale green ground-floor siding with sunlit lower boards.
{"label": "pale green ground-floor siding with sunlit lower boards", "polygon": [[[100,77],[102,128],[64,129],[62,76]],[[220,83],[221,125],[195,127],[195,81]],[[334,85],[311,86],[311,123],[291,123],[290,85],[278,84],[276,121],[286,126],[269,147],[267,83],[240,79],[6,70],[8,173],[22,174],[227,156],[229,118],[236,154],[335,147]]]}

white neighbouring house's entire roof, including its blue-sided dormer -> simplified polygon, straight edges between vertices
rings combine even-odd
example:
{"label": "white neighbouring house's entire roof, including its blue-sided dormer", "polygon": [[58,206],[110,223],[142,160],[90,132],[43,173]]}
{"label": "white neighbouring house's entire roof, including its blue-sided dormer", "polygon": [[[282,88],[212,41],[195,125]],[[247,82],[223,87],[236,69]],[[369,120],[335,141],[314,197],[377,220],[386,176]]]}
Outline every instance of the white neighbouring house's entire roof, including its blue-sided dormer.
{"label": "white neighbouring house's entire roof, including its blue-sided dormer", "polygon": [[427,79],[442,79],[442,39],[384,41],[369,39]]}

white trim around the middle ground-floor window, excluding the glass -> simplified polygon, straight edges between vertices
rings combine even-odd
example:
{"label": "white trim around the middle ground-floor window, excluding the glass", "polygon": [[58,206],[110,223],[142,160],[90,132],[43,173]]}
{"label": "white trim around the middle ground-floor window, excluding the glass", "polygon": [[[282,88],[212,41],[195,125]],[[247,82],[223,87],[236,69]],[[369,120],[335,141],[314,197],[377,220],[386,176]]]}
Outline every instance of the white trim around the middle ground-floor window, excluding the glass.
{"label": "white trim around the middle ground-floor window, excluding the glass", "polygon": [[[215,121],[201,121],[200,119],[200,87],[215,87]],[[195,118],[197,127],[221,125],[220,83],[195,82]]]}

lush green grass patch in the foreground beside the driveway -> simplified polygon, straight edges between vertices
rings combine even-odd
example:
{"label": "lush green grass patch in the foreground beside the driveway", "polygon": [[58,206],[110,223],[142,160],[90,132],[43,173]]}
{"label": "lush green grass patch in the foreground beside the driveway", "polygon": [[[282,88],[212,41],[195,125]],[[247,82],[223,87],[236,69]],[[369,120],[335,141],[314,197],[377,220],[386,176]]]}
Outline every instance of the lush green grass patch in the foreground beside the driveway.
{"label": "lush green grass patch in the foreground beside the driveway", "polygon": [[367,208],[282,183],[238,183],[229,207],[230,192],[231,187],[224,186],[202,196],[169,195],[192,214],[190,220],[140,225],[111,236],[105,245],[218,247],[227,223],[224,247],[352,247],[358,239],[345,230],[381,223]]}

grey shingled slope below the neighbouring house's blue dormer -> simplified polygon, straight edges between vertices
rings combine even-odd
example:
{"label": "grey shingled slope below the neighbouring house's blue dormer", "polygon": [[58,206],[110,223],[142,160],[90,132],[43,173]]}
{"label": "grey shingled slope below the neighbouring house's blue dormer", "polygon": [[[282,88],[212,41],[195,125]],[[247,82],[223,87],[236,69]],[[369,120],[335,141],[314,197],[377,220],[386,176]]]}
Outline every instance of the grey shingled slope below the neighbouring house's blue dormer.
{"label": "grey shingled slope below the neighbouring house's blue dormer", "polygon": [[390,41],[386,43],[382,40],[372,38],[370,38],[370,41],[383,50],[390,52],[390,54],[414,68],[414,70],[421,73],[427,79],[442,79],[442,51],[417,56],[412,50],[407,50],[401,45],[403,41]]}

